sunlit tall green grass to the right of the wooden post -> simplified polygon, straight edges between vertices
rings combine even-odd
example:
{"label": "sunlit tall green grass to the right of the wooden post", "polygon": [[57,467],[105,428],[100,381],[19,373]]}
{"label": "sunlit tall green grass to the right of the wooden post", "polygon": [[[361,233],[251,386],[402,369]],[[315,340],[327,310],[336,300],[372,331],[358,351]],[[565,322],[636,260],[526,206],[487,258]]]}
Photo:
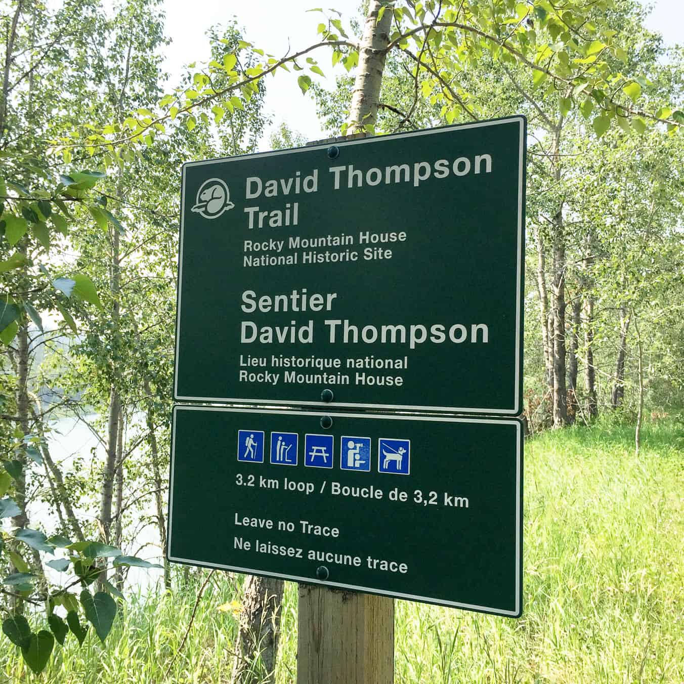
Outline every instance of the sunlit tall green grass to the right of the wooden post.
{"label": "sunlit tall green grass to the right of the wooden post", "polygon": [[397,682],[684,681],[683,428],[529,441],[523,618],[398,602]]}

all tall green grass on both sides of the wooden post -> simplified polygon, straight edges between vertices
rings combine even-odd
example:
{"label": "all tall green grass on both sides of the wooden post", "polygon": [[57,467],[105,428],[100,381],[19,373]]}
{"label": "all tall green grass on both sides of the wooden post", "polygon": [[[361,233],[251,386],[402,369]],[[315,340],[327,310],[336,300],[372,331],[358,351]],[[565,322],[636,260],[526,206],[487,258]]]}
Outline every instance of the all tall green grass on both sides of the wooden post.
{"label": "all tall green grass on both sides of the wooden post", "polygon": [[[509,620],[396,602],[399,683],[684,682],[684,423],[599,424],[547,432],[525,447],[525,606]],[[107,646],[68,637],[40,681],[161,682],[179,648],[204,570],[185,589],[129,600]],[[223,575],[200,601],[166,681],[230,681],[239,599]],[[278,684],[296,671],[296,588],[282,609]],[[0,675],[39,681],[0,640]],[[0,681],[2,678],[0,676]]]}

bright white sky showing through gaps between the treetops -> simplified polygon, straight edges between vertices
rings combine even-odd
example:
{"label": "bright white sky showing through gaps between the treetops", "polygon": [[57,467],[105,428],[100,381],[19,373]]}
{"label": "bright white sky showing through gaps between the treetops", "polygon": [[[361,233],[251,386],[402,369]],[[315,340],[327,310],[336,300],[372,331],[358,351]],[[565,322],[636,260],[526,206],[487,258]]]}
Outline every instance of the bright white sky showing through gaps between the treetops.
{"label": "bright white sky showing through gaps between the treetops", "polygon": [[[209,43],[205,31],[213,24],[225,25],[237,16],[246,40],[268,53],[280,57],[289,47],[302,49],[316,40],[316,26],[324,21],[318,12],[306,12],[313,7],[334,7],[343,19],[355,16],[360,0],[166,0],[166,35],[172,38],[167,49],[165,68],[170,73],[170,85],[179,81],[184,64],[205,62],[209,58]],[[654,9],[646,25],[663,34],[666,42],[684,43],[684,0],[654,0]],[[345,21],[345,25],[347,21]],[[333,69],[330,57],[321,50],[315,55],[326,74],[328,87],[334,86],[334,75],[343,68]],[[308,72],[307,72],[308,73]],[[277,125],[285,121],[307,140],[323,137],[311,96],[303,96],[296,85],[296,75],[280,70],[277,77],[268,78],[266,109],[274,115]],[[268,148],[268,132],[261,148]]]}

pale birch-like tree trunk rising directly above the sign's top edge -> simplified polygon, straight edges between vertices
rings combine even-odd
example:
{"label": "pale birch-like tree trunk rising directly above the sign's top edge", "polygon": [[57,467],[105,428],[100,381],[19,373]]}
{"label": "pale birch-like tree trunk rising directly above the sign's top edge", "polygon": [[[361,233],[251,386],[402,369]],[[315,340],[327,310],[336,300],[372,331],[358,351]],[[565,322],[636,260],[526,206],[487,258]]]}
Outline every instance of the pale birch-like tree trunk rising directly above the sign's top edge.
{"label": "pale birch-like tree trunk rising directly above the sign's top edge", "polygon": [[361,38],[358,51],[358,71],[352,91],[352,106],[347,129],[349,133],[365,131],[364,127],[373,126],[378,118],[385,49],[389,44],[389,30],[393,16],[392,8],[388,7],[378,21],[378,12],[385,5],[386,3],[382,0],[371,0],[368,8],[363,38]]}

